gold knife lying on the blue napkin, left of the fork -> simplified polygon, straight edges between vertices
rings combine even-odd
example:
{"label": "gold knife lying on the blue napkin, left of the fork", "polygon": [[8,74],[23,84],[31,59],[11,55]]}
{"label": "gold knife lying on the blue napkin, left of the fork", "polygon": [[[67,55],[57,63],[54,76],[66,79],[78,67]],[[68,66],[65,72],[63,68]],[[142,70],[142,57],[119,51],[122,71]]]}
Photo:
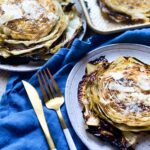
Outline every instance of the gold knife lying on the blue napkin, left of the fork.
{"label": "gold knife lying on the blue napkin, left of the fork", "polygon": [[42,102],[40,100],[38,92],[36,91],[36,89],[30,83],[28,83],[26,81],[22,81],[22,83],[23,83],[24,88],[27,92],[27,95],[30,99],[30,102],[33,106],[33,109],[36,113],[36,116],[39,120],[39,123],[42,127],[42,130],[45,134],[45,137],[47,139],[47,143],[48,143],[50,149],[51,150],[56,150],[53,139],[51,137],[51,134],[49,132],[49,129],[48,129],[48,126],[47,126],[47,123],[46,123]]}

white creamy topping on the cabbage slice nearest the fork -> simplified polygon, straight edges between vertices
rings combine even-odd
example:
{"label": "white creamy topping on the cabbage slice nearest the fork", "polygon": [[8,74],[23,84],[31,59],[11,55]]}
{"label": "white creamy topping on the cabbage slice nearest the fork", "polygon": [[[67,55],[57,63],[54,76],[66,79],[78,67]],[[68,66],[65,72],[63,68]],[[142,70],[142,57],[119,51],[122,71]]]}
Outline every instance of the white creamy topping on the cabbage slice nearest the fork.
{"label": "white creamy topping on the cabbage slice nearest the fork", "polygon": [[[120,79],[124,78],[123,73],[111,72],[109,73],[109,75],[114,80],[112,80],[112,82],[109,82],[109,84],[106,84],[105,88],[119,92],[119,93],[112,92],[109,95],[109,98],[115,100],[115,102],[118,104],[121,103],[124,104],[125,114],[128,114],[130,112],[131,113],[141,112],[142,111],[141,105],[143,107],[150,107],[150,94],[142,92],[142,91],[150,91],[150,79],[146,74],[140,74],[136,78],[137,81],[136,85],[139,87],[139,90],[137,90],[136,85],[134,87],[134,84],[130,84],[130,80],[124,79],[126,85],[123,84],[124,82],[118,82]],[[107,102],[109,102],[109,100]]]}

